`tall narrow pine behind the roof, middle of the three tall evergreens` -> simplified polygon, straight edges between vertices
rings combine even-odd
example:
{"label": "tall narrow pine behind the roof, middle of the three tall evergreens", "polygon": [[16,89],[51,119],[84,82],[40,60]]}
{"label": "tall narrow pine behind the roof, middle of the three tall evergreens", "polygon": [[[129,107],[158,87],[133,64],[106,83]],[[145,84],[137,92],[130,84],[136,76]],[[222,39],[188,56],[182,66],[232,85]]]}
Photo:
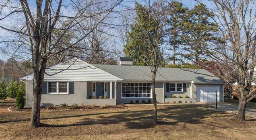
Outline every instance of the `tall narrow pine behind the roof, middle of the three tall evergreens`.
{"label": "tall narrow pine behind the roof, middle of the three tall evergreens", "polygon": [[169,50],[173,50],[173,56],[170,58],[173,61],[173,65],[178,60],[178,49],[184,43],[182,25],[187,11],[188,8],[183,7],[182,2],[171,1],[167,7],[169,16],[167,34],[169,35],[169,44],[171,46]]}

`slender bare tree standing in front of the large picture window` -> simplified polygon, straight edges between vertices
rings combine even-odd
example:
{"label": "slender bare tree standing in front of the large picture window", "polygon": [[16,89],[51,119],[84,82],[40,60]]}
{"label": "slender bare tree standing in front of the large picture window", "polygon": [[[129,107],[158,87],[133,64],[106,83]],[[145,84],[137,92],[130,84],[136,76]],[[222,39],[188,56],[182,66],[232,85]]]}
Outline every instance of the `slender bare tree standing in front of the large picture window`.
{"label": "slender bare tree standing in front of the large picture window", "polygon": [[[157,124],[157,100],[155,94],[155,81],[157,70],[160,66],[162,66],[163,60],[163,49],[161,48],[161,44],[163,44],[163,35],[164,35],[164,27],[166,25],[167,16],[165,14],[164,4],[161,1],[156,1],[152,5],[149,4],[149,8],[146,11],[148,12],[149,19],[153,22],[154,26],[152,26],[149,30],[143,30],[143,39],[142,42],[146,44],[149,48],[147,53],[144,54],[146,58],[147,66],[151,69],[151,86],[152,86],[152,95],[153,95],[153,107],[154,107],[154,125]],[[143,26],[143,25],[142,25]],[[145,29],[145,28],[142,28]]]}

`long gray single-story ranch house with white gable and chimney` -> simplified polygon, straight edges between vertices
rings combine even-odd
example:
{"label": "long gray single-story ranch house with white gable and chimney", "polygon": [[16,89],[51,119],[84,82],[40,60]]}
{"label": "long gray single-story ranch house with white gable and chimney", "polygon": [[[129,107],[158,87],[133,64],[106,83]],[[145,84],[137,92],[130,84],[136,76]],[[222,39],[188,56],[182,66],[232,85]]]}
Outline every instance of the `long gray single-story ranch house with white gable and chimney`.
{"label": "long gray single-story ranch house with white gable and chimney", "polygon": [[[74,58],[51,66],[45,72],[60,73],[53,76],[45,74],[42,106],[60,103],[116,105],[130,103],[130,100],[147,102],[152,98],[150,67],[132,66],[131,58],[120,58],[120,65],[92,65]],[[26,82],[26,106],[31,107],[33,74],[23,76],[21,80]],[[217,100],[223,101],[223,82],[203,69],[159,68],[155,91],[159,103],[179,100],[183,103],[213,102],[215,91]],[[176,98],[171,98],[171,95]],[[95,96],[97,99],[91,99]],[[99,96],[107,96],[108,99],[98,99]]]}

